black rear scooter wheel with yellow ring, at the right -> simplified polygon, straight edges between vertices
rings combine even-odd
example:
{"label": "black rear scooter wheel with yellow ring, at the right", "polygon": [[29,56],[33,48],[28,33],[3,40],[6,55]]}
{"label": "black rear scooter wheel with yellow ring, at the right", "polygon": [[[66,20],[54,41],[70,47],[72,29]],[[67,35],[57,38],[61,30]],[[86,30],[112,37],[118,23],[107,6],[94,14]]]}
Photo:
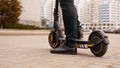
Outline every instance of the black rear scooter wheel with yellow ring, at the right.
{"label": "black rear scooter wheel with yellow ring, at the right", "polygon": [[[101,39],[102,39],[101,34],[97,32],[91,34],[89,37],[89,41],[91,41],[92,43],[97,43]],[[101,42],[100,44],[91,47],[90,50],[95,56],[101,57],[106,53],[107,48],[108,45],[106,45],[104,42]]]}

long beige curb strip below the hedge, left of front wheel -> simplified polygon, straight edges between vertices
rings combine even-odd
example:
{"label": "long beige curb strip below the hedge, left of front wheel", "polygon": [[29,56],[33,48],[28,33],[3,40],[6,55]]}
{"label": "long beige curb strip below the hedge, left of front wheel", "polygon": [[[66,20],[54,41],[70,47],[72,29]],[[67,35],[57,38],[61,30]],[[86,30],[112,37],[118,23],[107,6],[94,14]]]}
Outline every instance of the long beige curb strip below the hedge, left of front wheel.
{"label": "long beige curb strip below the hedge, left of front wheel", "polygon": [[48,35],[50,30],[12,30],[0,29],[0,36]]}

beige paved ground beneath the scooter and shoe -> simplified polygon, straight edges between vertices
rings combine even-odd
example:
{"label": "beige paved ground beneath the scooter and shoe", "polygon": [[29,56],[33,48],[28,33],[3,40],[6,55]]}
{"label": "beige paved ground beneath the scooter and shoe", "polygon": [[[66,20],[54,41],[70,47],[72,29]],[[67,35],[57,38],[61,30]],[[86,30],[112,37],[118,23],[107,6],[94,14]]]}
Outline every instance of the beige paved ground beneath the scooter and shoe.
{"label": "beige paved ground beneath the scooter and shoe", "polygon": [[120,68],[120,34],[107,34],[109,49],[98,58],[89,49],[78,49],[78,55],[50,54],[48,32],[19,32],[0,30],[0,68]]}

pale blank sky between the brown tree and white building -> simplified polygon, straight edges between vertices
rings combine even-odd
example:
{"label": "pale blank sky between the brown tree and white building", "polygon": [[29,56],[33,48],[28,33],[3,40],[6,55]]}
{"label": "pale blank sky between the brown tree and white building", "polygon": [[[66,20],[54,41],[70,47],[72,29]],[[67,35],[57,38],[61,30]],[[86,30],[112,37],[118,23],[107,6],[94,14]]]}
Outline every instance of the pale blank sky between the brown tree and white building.
{"label": "pale blank sky between the brown tree and white building", "polygon": [[20,16],[21,20],[40,20],[40,0],[21,0],[23,11]]}

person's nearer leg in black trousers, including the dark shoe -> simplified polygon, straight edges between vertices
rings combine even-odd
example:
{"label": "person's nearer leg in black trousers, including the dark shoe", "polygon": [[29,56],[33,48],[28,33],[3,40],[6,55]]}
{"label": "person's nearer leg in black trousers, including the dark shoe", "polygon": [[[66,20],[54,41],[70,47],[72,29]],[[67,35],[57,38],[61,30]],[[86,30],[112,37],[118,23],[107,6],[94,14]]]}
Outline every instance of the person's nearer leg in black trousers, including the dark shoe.
{"label": "person's nearer leg in black trousers, including the dark shoe", "polygon": [[70,53],[77,54],[75,39],[79,33],[77,10],[74,6],[74,0],[60,0],[60,5],[63,13],[63,21],[66,35],[66,46],[51,50],[51,53]]}

